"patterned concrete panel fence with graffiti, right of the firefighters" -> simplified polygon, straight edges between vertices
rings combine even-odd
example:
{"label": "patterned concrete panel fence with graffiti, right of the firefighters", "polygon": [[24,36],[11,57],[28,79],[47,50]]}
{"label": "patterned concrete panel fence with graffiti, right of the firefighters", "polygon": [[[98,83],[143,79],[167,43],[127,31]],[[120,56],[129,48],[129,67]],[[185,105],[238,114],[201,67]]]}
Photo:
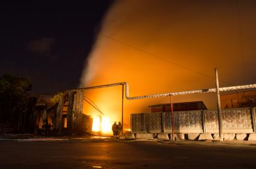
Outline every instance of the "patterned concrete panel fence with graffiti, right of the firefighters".
{"label": "patterned concrete panel fence with graffiti, right of the firefighters", "polygon": [[[255,132],[255,108],[222,110],[224,133]],[[171,112],[131,114],[132,133],[172,133]],[[175,133],[218,133],[216,110],[174,111]]]}

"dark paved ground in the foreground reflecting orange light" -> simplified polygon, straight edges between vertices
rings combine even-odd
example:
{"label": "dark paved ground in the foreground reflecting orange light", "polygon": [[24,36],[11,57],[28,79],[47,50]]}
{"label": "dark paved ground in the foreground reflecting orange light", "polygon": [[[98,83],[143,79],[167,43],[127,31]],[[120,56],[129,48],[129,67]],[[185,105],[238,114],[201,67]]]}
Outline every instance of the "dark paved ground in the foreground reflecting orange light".
{"label": "dark paved ground in the foreground reflecting orange light", "polygon": [[0,168],[256,168],[256,144],[0,141]]}

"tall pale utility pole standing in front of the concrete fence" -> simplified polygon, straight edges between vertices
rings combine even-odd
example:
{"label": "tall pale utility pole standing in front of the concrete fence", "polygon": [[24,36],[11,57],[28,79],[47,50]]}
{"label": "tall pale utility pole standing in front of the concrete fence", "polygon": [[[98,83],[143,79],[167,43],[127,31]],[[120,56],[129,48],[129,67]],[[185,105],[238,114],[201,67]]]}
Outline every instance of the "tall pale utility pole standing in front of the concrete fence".
{"label": "tall pale utility pole standing in front of the concrete fence", "polygon": [[217,94],[217,107],[218,107],[219,139],[220,139],[220,141],[223,141],[221,99],[219,97],[219,79],[218,79],[218,69],[217,68],[215,68],[215,80],[216,80],[216,94]]}

